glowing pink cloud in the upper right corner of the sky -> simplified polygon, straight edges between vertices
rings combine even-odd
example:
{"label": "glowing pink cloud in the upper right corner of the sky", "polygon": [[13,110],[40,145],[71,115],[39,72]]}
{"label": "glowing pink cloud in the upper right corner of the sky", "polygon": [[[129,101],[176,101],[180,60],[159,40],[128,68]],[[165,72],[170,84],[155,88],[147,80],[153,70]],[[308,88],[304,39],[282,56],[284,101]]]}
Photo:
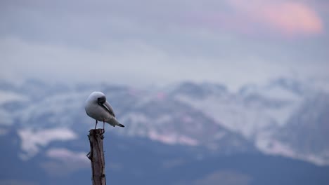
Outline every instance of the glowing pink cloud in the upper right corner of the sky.
{"label": "glowing pink cloud in the upper right corner of the sky", "polygon": [[240,32],[265,29],[286,36],[323,32],[323,22],[318,13],[300,1],[228,0],[228,3],[235,13],[233,16],[221,16],[221,23],[229,28],[238,28]]}

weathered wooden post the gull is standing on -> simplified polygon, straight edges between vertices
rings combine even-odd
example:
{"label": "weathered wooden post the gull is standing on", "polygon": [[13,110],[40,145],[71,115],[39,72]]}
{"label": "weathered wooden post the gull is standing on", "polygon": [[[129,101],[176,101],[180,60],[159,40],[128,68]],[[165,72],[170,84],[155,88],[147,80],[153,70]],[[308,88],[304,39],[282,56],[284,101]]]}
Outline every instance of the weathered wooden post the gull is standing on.
{"label": "weathered wooden post the gull is standing on", "polygon": [[105,160],[103,151],[103,129],[89,130],[90,152],[87,157],[91,160],[93,185],[105,185]]}

